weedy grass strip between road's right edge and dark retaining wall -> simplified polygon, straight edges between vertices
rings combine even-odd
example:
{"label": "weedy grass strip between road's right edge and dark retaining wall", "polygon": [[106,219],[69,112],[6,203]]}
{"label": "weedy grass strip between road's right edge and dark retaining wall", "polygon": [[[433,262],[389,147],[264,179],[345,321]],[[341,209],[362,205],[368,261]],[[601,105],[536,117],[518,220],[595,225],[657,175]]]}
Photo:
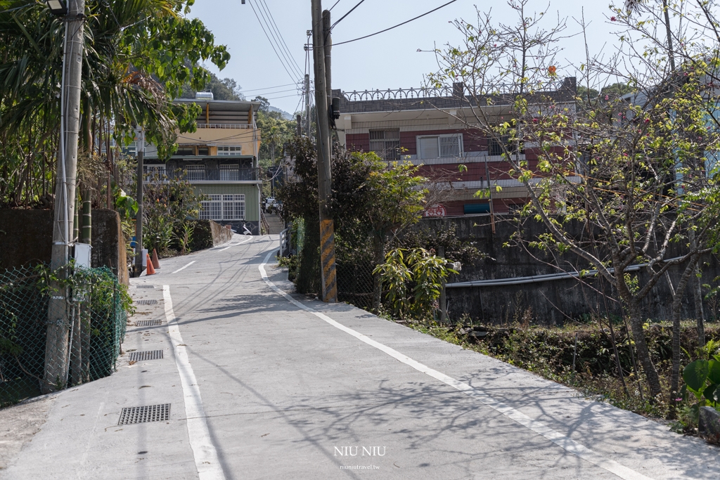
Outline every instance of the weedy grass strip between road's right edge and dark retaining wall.
{"label": "weedy grass strip between road's right edge and dark retaining wall", "polygon": [[[656,420],[670,416],[667,393],[660,399],[649,399],[642,370],[639,365],[635,366],[633,361],[631,338],[621,323],[614,325],[613,322],[613,330],[622,376],[618,371],[612,337],[606,322],[603,322],[603,329],[598,323],[564,327],[518,324],[500,327],[413,321],[405,325],[570,386],[585,397],[605,401]],[[695,321],[683,322],[682,325],[681,368],[696,359],[694,352],[698,344],[695,325]],[[649,323],[646,325],[646,334],[663,391],[667,392],[672,368],[672,325],[667,322]],[[720,338],[720,325],[706,323],[706,340],[712,338]],[[688,415],[683,414],[688,408],[689,404],[679,405],[679,420],[673,424],[673,430],[693,433],[696,425],[693,425]]]}

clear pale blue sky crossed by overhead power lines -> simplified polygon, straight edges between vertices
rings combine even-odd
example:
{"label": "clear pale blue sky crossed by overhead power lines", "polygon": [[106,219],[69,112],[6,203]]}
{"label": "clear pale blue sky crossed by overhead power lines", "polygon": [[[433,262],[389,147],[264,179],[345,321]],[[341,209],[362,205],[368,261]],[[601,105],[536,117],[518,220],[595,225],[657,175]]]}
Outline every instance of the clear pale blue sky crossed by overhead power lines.
{"label": "clear pale blue sky crossed by overhead power lines", "polygon": [[[336,0],[324,0],[323,8],[333,6]],[[404,22],[436,8],[448,0],[365,0],[357,9],[333,29],[333,42],[352,40],[383,30]],[[340,0],[333,8],[333,22],[355,6],[359,0]],[[546,9],[548,25],[560,17],[567,17],[567,33],[580,32],[573,17],[590,22],[588,40],[592,50],[605,46],[609,53],[616,36],[611,32],[613,25],[606,17],[610,16],[608,4],[611,1],[587,0],[531,0],[529,6],[535,10]],[[618,1],[616,0],[616,3]],[[436,68],[432,53],[417,50],[432,50],[434,45],[458,42],[459,35],[449,21],[477,18],[477,8],[487,11],[492,8],[492,16],[500,22],[516,20],[505,1],[457,0],[443,9],[426,17],[398,27],[390,32],[376,35],[366,40],[333,47],[333,88],[343,91],[366,89],[398,89],[421,86],[423,74]],[[288,53],[297,66],[285,58],[283,62],[273,50],[271,42],[258,22],[255,11],[263,21],[261,12],[274,20],[274,27],[282,34]],[[299,105],[300,96],[289,83],[294,83],[305,73],[305,51],[303,45],[310,29],[310,0],[196,0],[191,16],[202,19],[215,34],[217,43],[228,46],[230,63],[221,72],[215,72],[220,78],[235,78],[243,87],[246,96],[253,98],[261,94],[270,99],[275,107],[294,112]],[[263,23],[268,35],[270,28]],[[271,36],[271,39],[273,37]],[[574,74],[572,65],[579,65],[585,58],[582,37],[573,37],[563,42],[564,51],[560,58],[568,65],[563,76]],[[284,47],[284,45],[283,45]],[[276,47],[277,48],[277,47]],[[278,50],[278,54],[281,50]],[[310,55],[312,61],[312,55]],[[286,64],[286,67],[283,64]],[[289,73],[285,70],[289,71]],[[312,77],[312,64],[310,65]],[[279,86],[276,89],[269,87]],[[290,91],[287,91],[290,90]]]}

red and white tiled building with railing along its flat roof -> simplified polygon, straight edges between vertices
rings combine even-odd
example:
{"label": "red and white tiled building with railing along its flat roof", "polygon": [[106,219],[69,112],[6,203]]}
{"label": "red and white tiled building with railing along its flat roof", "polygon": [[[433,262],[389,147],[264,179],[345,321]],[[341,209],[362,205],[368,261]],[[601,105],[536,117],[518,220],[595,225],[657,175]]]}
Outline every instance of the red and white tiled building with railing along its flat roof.
{"label": "red and white tiled building with railing along its flat roof", "polygon": [[[387,161],[420,166],[420,175],[442,186],[428,216],[489,213],[490,202],[495,214],[513,212],[526,203],[526,188],[508,175],[511,167],[501,146],[473,127],[479,108],[490,122],[510,119],[513,94],[495,96],[490,106],[471,107],[473,97],[466,91],[462,83],[453,89],[333,91],[341,99],[338,140],[348,150],[374,151]],[[542,94],[558,107],[575,110],[575,78],[552,83]],[[536,145],[526,143],[520,160],[536,168]],[[478,197],[480,189],[490,189],[491,198]]]}

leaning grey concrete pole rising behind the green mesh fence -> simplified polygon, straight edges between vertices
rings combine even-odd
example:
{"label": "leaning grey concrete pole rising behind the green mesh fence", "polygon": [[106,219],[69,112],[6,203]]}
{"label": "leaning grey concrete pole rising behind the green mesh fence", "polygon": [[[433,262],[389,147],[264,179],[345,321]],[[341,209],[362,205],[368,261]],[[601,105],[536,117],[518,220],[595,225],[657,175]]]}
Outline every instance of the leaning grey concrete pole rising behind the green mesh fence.
{"label": "leaning grey concrete pole rising behind the green mesh fence", "polygon": [[[68,0],[63,72],[60,83],[60,149],[58,150],[57,181],[55,181],[55,217],[50,269],[60,278],[69,275],[70,235],[75,217],[75,189],[78,165],[78,130],[80,127],[80,91],[83,68],[85,0]],[[71,292],[59,282],[51,285],[48,302],[48,338],[45,343],[45,372],[42,392],[63,388],[68,373],[68,299]]]}

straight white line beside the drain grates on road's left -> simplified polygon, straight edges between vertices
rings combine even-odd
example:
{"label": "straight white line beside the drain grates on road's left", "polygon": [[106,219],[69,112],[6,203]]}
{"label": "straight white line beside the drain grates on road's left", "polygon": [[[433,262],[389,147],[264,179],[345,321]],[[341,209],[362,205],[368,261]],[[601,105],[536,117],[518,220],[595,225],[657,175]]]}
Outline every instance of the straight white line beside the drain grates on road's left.
{"label": "straight white line beside the drain grates on road's left", "polygon": [[[183,267],[184,268],[184,267]],[[195,457],[195,466],[200,480],[225,480],[225,472],[217,458],[217,450],[210,438],[207,428],[205,409],[202,407],[200,388],[195,379],[195,373],[190,366],[190,359],[184,348],[178,322],[173,312],[173,300],[170,296],[170,286],[163,285],[163,299],[165,300],[165,318],[173,343],[175,365],[180,373],[183,397],[185,400],[185,417],[187,418],[187,433],[190,446]]]}

